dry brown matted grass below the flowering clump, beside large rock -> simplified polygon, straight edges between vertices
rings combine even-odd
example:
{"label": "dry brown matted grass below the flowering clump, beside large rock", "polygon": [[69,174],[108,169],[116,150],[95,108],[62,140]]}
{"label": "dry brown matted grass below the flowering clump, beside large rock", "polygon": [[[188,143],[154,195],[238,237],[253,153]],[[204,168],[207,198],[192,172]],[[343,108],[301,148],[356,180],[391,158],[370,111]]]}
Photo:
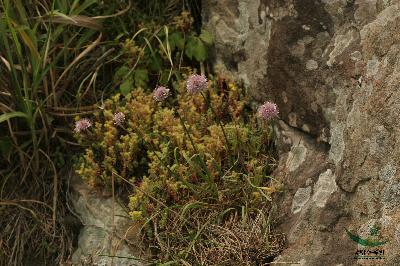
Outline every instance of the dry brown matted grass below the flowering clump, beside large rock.
{"label": "dry brown matted grass below the flowering clump, beside large rock", "polygon": [[260,212],[247,221],[232,216],[223,225],[211,225],[196,257],[202,265],[267,265],[282,250],[284,237],[272,234],[264,218]]}

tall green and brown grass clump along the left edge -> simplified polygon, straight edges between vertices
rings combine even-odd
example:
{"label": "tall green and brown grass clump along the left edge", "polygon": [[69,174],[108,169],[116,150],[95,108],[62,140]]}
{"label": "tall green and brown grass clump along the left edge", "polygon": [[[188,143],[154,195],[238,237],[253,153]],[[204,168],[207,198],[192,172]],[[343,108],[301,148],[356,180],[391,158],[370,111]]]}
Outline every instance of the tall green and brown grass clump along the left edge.
{"label": "tall green and brown grass clump along the left edge", "polygon": [[77,100],[89,90],[82,75],[96,73],[101,23],[83,15],[93,2],[0,1],[2,265],[70,253],[60,170],[71,133],[63,125],[68,113],[94,109]]}

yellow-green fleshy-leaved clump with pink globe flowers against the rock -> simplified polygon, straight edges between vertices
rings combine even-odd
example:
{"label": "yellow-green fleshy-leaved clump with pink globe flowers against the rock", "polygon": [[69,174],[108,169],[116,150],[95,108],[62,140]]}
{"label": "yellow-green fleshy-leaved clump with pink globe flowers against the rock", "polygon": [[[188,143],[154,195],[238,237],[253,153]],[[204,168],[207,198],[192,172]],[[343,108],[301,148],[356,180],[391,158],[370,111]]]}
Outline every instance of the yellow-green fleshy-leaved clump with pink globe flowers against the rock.
{"label": "yellow-green fleshy-leaved clump with pink globe flowers against the rock", "polygon": [[[251,220],[279,190],[268,177],[275,162],[272,132],[233,82],[192,75],[175,85],[176,98],[163,105],[158,102],[171,96],[163,86],[106,100],[93,134],[77,135],[87,145],[77,172],[92,186],[107,189],[114,181],[130,191],[130,216],[161,261],[202,264],[200,254],[211,252],[204,245],[215,232],[199,228],[243,215]],[[120,113],[124,126],[118,127]],[[265,238],[263,230],[254,237]]]}

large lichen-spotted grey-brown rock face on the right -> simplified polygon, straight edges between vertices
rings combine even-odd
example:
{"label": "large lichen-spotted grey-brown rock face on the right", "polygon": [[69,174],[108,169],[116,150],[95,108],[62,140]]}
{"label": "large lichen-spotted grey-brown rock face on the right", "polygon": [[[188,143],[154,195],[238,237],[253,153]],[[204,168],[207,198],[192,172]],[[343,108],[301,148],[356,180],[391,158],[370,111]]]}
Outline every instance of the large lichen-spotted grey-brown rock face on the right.
{"label": "large lichen-spotted grey-brown rock face on the right", "polygon": [[[219,68],[280,107],[277,260],[400,265],[400,1],[205,0],[203,13]],[[346,229],[387,240],[385,259],[355,259],[368,247]]]}

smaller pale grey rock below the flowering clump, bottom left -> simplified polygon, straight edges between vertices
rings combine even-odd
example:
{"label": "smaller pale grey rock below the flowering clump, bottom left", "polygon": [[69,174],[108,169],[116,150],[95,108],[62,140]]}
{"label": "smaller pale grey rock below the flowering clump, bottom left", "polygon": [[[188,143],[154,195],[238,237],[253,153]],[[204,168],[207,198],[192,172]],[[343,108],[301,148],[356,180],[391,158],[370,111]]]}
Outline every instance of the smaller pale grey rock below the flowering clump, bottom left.
{"label": "smaller pale grey rock below the flowering clump, bottom left", "polygon": [[71,201],[83,224],[73,265],[143,265],[136,259],[139,252],[128,245],[139,241],[123,208],[112,197],[96,194],[80,178],[74,177],[71,187]]}

